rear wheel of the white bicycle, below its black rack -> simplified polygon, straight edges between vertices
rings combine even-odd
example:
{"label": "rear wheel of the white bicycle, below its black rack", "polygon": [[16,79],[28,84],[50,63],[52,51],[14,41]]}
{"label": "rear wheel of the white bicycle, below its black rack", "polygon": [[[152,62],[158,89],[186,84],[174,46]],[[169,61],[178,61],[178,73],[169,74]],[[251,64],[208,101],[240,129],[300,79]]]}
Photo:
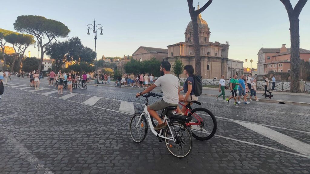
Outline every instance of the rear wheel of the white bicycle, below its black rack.
{"label": "rear wheel of the white bicycle, below its black rack", "polygon": [[186,157],[193,148],[193,136],[190,128],[179,121],[172,122],[170,128],[171,131],[166,127],[165,137],[172,139],[173,135],[176,141],[165,139],[167,149],[176,157]]}

